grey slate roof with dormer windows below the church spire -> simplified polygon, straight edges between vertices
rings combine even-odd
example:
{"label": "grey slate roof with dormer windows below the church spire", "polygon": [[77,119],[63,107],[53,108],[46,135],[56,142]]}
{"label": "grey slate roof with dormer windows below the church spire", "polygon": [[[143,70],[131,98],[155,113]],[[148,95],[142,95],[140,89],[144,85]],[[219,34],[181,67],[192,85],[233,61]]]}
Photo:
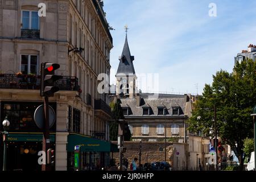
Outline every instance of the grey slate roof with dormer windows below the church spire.
{"label": "grey slate roof with dormer windows below the church spire", "polygon": [[[152,113],[147,116],[159,116],[158,115],[158,107],[163,107],[164,105],[167,107],[168,114],[167,116],[172,115],[172,108],[173,107],[180,107],[182,112],[180,112],[180,115],[184,116],[187,115],[187,113],[191,110],[187,108],[189,105],[188,103],[191,102],[189,100],[189,97],[187,95],[170,95],[170,94],[160,94],[158,98],[150,98],[151,94],[140,94],[141,96],[141,105],[137,106],[137,99],[136,98],[121,98],[121,106],[129,106],[130,107],[130,114],[129,116],[142,116],[143,113],[143,107],[150,106],[152,109]],[[187,107],[186,107],[187,105]],[[185,114],[184,114],[185,113]],[[145,115],[143,115],[145,116]]]}

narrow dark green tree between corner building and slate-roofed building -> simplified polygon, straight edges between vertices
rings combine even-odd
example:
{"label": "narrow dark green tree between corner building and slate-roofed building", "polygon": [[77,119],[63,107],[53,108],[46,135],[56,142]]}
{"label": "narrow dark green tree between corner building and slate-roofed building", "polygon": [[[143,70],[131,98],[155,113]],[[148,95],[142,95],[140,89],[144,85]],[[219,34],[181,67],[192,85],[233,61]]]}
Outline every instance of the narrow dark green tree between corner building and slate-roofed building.
{"label": "narrow dark green tree between corner building and slate-roofed building", "polygon": [[[114,120],[113,122],[110,122],[109,125],[109,135],[110,135],[110,140],[117,140],[118,136],[118,119],[125,119],[123,117],[123,111],[121,107],[121,101],[117,100],[115,103],[114,101],[110,103],[111,111],[112,111],[112,119]],[[131,133],[129,130],[128,125],[126,124],[123,130],[123,135],[124,135],[124,140],[129,141],[131,138]]]}

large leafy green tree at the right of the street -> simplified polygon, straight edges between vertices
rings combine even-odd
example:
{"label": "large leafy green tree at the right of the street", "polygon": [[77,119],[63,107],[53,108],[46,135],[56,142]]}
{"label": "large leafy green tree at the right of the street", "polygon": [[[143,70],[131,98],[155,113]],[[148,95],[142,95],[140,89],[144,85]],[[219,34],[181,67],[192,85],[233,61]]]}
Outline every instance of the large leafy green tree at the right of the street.
{"label": "large leafy green tree at the right of the street", "polygon": [[218,71],[212,85],[205,85],[189,119],[189,130],[202,131],[214,137],[214,105],[217,115],[217,135],[234,150],[243,169],[243,143],[253,136],[251,109],[256,102],[256,62],[237,62],[233,72]]}

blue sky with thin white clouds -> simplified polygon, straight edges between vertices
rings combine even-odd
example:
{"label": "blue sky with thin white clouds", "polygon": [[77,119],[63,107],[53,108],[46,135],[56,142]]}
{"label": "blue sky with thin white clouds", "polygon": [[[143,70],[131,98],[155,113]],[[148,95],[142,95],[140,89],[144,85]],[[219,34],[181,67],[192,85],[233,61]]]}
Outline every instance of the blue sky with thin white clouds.
{"label": "blue sky with thin white clouds", "polygon": [[104,10],[115,29],[110,30],[110,84],[115,84],[127,24],[137,76],[158,75],[156,86],[138,86],[143,92],[201,94],[212,75],[232,72],[237,53],[256,44],[255,0],[104,0]]}

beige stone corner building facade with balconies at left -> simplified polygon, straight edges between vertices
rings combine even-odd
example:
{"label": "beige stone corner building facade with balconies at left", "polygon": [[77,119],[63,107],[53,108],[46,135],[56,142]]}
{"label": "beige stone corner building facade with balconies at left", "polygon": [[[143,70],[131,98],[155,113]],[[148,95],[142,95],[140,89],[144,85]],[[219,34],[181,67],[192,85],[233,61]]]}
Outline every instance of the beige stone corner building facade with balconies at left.
{"label": "beige stone corner building facade with balconies at left", "polygon": [[[46,4],[45,17],[38,16],[39,3]],[[72,151],[67,151],[71,133],[109,140],[109,97],[97,92],[98,75],[110,74],[110,49],[113,47],[102,6],[98,0],[0,1],[1,119],[9,113],[10,134],[13,132],[16,141],[26,143],[20,132],[38,132],[35,123],[26,123],[34,121],[33,109],[29,115],[15,117],[10,115],[10,110],[17,107],[17,103],[19,107],[30,102],[42,103],[40,63],[60,64],[56,74],[64,76],[58,83],[60,91],[49,98],[56,111],[56,126],[52,129],[56,170],[66,170],[73,165]],[[19,117],[29,119],[22,121]],[[35,141],[40,143],[40,140]],[[15,144],[15,141],[10,140],[10,143]],[[83,158],[87,161],[88,157],[100,158],[103,163],[104,155],[85,152]],[[22,168],[22,165],[10,168]]]}

